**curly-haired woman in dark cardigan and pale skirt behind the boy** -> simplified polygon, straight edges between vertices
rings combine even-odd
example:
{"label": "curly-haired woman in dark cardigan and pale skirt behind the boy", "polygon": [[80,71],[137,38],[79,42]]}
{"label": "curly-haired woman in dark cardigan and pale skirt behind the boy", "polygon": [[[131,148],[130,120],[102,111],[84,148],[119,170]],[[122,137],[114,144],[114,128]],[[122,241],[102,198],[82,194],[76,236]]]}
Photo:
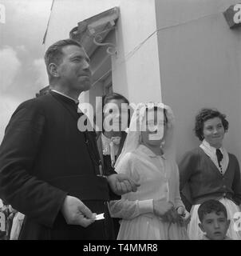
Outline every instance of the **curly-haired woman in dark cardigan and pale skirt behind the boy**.
{"label": "curly-haired woman in dark cardigan and pale skirt behind the boy", "polygon": [[[227,236],[241,239],[234,230],[234,214],[239,212],[241,203],[241,181],[239,162],[234,154],[227,153],[223,147],[223,137],[228,130],[226,116],[218,110],[203,109],[196,116],[196,136],[201,144],[184,155],[180,162],[180,190],[189,190],[192,201],[192,218],[188,235],[192,240],[200,240],[197,210],[202,202],[217,199],[227,208],[231,225]],[[184,192],[184,197],[188,195]]]}

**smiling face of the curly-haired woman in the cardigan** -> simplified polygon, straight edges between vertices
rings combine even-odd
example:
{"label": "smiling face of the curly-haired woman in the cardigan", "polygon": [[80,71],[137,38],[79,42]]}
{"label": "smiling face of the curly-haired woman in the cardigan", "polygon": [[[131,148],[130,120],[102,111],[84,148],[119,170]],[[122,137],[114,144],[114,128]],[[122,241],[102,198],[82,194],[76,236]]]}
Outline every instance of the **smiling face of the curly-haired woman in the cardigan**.
{"label": "smiling face of the curly-haired woman in the cardigan", "polygon": [[203,123],[203,137],[213,147],[222,146],[224,127],[220,118],[211,118]]}

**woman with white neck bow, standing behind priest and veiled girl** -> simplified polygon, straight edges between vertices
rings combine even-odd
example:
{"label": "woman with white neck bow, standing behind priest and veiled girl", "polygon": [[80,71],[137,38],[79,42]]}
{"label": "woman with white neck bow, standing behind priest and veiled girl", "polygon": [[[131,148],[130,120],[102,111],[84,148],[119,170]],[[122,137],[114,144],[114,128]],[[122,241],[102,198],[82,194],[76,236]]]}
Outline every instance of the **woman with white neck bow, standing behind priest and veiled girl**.
{"label": "woman with white neck bow, standing behind priest and veiled girl", "polygon": [[[97,146],[103,170],[105,175],[108,176],[116,173],[114,165],[118,156],[121,154],[126,138],[125,130],[128,128],[130,118],[128,110],[129,102],[123,95],[113,93],[103,96],[101,103],[97,114],[102,114],[102,131],[97,134]],[[121,117],[123,118],[121,119]],[[110,198],[112,199],[121,198],[113,192],[110,193]],[[116,238],[120,227],[119,220],[119,218],[113,219]]]}

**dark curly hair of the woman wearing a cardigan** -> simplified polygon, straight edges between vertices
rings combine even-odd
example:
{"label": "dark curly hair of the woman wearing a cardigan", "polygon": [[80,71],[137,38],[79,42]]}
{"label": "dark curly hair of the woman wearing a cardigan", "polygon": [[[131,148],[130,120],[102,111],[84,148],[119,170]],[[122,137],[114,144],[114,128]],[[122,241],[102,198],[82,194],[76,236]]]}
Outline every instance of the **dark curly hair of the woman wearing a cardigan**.
{"label": "dark curly hair of the woman wearing a cardigan", "polygon": [[196,122],[194,127],[196,137],[198,137],[200,141],[203,140],[203,124],[211,118],[220,118],[225,132],[228,130],[228,122],[225,114],[222,114],[215,109],[204,108],[200,110],[199,114],[196,115]]}

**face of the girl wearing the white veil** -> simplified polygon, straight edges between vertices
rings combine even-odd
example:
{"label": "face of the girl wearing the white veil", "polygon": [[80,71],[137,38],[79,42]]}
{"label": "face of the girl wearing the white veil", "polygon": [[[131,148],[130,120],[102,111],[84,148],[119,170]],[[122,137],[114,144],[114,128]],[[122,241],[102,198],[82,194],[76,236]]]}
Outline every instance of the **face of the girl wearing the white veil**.
{"label": "face of the girl wearing the white veil", "polygon": [[145,126],[146,131],[141,131],[141,142],[149,146],[160,146],[167,131],[164,110],[148,110]]}

